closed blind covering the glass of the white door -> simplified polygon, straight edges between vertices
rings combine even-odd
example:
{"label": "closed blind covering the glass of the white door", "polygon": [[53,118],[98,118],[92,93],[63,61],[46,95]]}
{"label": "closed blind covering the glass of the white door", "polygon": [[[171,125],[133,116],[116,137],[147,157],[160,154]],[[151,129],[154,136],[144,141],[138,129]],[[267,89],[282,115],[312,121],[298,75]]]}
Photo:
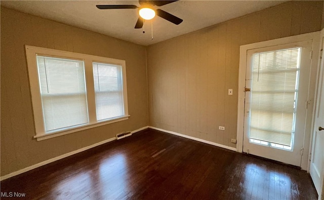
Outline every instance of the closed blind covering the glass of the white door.
{"label": "closed blind covering the glass of the white door", "polygon": [[251,139],[291,146],[300,48],[253,55]]}

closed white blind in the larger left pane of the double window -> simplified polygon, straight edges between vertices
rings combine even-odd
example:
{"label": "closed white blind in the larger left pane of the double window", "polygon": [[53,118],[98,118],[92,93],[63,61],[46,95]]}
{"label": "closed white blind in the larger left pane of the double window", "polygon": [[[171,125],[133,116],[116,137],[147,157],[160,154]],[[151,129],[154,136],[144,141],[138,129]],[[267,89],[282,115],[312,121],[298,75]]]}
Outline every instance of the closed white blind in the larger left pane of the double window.
{"label": "closed white blind in the larger left pane of the double window", "polygon": [[45,130],[89,123],[82,60],[37,55]]}

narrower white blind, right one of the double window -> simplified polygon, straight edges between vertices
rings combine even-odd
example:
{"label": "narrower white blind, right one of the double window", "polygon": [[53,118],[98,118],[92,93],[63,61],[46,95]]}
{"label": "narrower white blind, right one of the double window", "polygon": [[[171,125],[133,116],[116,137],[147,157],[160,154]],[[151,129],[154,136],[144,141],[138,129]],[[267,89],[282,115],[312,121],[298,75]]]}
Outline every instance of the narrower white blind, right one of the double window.
{"label": "narrower white blind, right one of the double window", "polygon": [[124,115],[121,66],[93,62],[97,120]]}

